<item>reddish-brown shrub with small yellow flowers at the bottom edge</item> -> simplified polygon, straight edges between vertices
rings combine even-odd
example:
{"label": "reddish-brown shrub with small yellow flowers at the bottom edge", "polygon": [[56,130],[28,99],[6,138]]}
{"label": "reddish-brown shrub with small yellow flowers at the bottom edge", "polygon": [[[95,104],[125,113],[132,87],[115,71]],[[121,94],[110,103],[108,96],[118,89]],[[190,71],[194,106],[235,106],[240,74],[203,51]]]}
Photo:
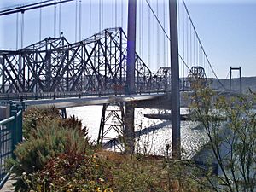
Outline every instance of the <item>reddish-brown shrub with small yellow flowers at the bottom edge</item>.
{"label": "reddish-brown shrub with small yellow flowers at the bottom edge", "polygon": [[32,191],[112,191],[112,177],[96,155],[59,154],[38,172],[24,175],[28,189]]}

